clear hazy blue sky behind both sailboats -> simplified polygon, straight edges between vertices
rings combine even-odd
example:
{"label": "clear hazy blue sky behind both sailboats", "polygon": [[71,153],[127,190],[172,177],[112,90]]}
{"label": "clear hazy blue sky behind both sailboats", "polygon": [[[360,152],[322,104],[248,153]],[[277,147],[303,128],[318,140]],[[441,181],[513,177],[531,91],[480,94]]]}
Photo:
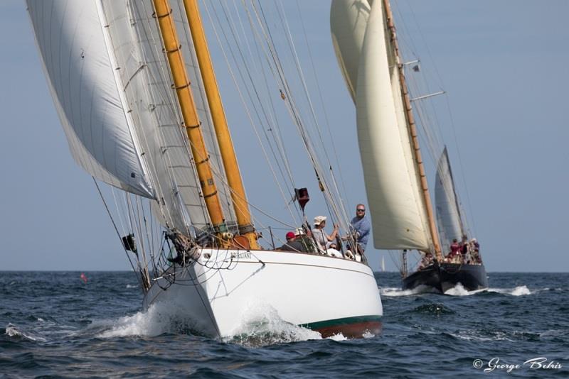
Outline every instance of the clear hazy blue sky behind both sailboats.
{"label": "clear hazy blue sky behind both sailboats", "polygon": [[[340,141],[352,213],[365,194],[355,111],[331,48],[329,3],[300,5],[326,114]],[[567,271],[569,3],[400,0],[394,9],[422,71],[438,74],[432,89],[447,92],[436,104],[441,114],[450,104],[452,124],[448,116],[441,120],[453,170],[466,174],[468,189],[460,194],[486,270]],[[92,179],[68,151],[22,1],[0,3],[0,35],[0,270],[128,269]],[[219,79],[222,90],[230,87],[223,73]],[[239,117],[238,99],[225,92],[231,122]],[[233,132],[248,195],[284,215],[283,204],[272,205],[280,197],[259,185],[260,157],[248,133]],[[312,177],[303,180],[314,188]],[[309,214],[322,213],[321,203],[314,204]],[[373,268],[381,254],[368,253]]]}

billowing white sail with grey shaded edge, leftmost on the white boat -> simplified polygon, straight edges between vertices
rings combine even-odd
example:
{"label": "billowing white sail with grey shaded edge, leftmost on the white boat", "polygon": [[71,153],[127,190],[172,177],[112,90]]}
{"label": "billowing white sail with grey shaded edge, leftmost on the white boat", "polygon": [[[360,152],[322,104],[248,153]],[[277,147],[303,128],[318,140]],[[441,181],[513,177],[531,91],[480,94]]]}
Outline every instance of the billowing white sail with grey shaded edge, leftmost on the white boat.
{"label": "billowing white sail with grey shaded edge, leftmost on the white boat", "polygon": [[28,0],[43,69],[75,161],[94,177],[154,197],[94,1]]}

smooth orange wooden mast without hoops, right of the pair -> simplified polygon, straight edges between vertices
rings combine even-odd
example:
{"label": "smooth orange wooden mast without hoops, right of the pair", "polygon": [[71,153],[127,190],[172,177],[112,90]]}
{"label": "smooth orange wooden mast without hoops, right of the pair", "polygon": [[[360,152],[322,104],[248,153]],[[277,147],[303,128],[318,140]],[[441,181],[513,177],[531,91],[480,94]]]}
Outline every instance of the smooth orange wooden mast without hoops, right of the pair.
{"label": "smooth orange wooden mast without hoops, right of the pair", "polygon": [[237,216],[239,234],[248,239],[250,248],[258,249],[257,234],[251,223],[245,188],[241,180],[227,119],[225,119],[225,111],[223,111],[216,74],[211,65],[211,57],[206,42],[206,35],[203,32],[197,0],[184,0],[184,9],[186,9],[186,16],[190,25],[193,48],[196,50],[196,56],[198,57],[203,86],[206,89],[206,97],[208,98],[211,118],[213,119],[213,127],[216,130],[221,159],[225,167],[225,175],[227,175],[228,185],[231,189],[231,199],[233,200],[235,216]]}

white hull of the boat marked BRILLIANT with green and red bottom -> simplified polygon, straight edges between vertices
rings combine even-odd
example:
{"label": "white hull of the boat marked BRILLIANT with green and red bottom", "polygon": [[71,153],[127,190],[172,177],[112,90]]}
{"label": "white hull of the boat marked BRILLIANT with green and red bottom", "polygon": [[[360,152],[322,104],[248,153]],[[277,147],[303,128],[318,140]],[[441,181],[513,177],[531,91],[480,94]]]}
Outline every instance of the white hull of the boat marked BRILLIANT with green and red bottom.
{"label": "white hull of the boat marked BRILLIANT with green and red bottom", "polygon": [[196,263],[176,265],[151,285],[144,307],[157,303],[220,337],[240,334],[251,312],[346,337],[377,333],[383,314],[368,265],[284,251],[204,248]]}

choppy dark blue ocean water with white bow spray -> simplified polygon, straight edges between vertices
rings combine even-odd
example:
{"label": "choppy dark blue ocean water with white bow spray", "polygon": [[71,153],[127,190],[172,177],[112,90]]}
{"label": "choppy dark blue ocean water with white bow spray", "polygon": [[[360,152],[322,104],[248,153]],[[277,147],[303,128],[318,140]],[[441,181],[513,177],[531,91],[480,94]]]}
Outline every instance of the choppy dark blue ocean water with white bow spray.
{"label": "choppy dark blue ocean water with white bow spray", "polygon": [[228,341],[142,312],[133,273],[85,275],[0,272],[0,378],[569,377],[568,273],[490,273],[489,290],[446,296],[376,273],[381,334],[321,339],[264,312]]}

